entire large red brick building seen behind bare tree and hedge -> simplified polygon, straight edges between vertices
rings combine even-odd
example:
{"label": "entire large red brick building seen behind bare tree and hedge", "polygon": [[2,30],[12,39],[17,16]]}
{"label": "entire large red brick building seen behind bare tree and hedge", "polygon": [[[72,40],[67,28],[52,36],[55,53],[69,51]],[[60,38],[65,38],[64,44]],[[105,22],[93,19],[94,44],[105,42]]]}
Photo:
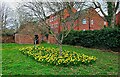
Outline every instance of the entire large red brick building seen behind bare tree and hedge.
{"label": "entire large red brick building seen behind bare tree and hedge", "polygon": [[[65,25],[70,29],[71,24],[73,23],[74,30],[100,30],[104,28],[104,26],[107,26],[107,22],[102,18],[98,12],[92,7],[87,8],[80,11],[76,11],[74,8],[72,8],[72,11],[74,12],[74,22],[71,22],[69,19],[70,14],[67,9],[62,10],[63,19],[68,20]],[[47,23],[49,23],[50,27],[54,30],[55,33],[59,33],[62,30],[62,24],[60,24],[60,17],[58,13],[52,14],[47,19]],[[50,35],[48,41],[50,43],[56,43],[55,39]]]}

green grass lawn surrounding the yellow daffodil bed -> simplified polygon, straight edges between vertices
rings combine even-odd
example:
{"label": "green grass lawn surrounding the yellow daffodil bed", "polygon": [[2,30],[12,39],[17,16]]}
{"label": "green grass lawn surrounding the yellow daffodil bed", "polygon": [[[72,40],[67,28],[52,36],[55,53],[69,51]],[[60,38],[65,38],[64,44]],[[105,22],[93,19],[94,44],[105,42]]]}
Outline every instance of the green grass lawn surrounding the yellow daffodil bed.
{"label": "green grass lawn surrounding the yellow daffodil bed", "polygon": [[[40,44],[45,47],[57,48],[53,44]],[[76,51],[98,59],[92,65],[53,66],[35,61],[23,55],[18,49],[32,46],[29,44],[2,44],[2,74],[3,75],[118,75],[118,53],[104,52],[95,49],[63,46],[63,49]],[[1,51],[0,51],[1,52]]]}

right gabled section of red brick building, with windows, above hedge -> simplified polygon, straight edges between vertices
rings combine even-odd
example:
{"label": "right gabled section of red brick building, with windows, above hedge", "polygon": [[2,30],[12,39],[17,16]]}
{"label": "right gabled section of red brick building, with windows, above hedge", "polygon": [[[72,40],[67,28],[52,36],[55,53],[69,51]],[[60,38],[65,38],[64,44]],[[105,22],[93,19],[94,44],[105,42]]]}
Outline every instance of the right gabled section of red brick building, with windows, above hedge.
{"label": "right gabled section of red brick building, with windows, above hedge", "polygon": [[79,16],[79,18],[74,22],[74,30],[100,30],[104,28],[104,26],[107,26],[104,18],[92,7],[83,10],[77,16]]}

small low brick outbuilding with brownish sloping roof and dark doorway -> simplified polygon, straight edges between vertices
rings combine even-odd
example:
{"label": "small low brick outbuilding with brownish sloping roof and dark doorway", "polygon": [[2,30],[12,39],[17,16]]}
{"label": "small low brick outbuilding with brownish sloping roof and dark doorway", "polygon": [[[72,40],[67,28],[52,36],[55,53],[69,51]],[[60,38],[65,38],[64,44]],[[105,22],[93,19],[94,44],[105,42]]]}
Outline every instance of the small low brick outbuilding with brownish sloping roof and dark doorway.
{"label": "small low brick outbuilding with brownish sloping roof and dark doorway", "polygon": [[28,22],[22,25],[15,34],[15,43],[18,44],[34,44],[34,39],[37,37],[36,43],[39,44],[42,39],[46,40],[46,37],[41,35],[40,27],[32,22]]}

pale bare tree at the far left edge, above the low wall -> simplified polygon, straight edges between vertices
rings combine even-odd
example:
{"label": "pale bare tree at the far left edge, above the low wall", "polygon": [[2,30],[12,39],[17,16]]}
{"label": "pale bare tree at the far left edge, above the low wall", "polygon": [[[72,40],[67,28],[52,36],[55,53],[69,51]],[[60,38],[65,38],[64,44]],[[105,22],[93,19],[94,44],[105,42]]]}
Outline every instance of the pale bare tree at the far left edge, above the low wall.
{"label": "pale bare tree at the far left edge, above the low wall", "polygon": [[0,2],[0,28],[1,34],[13,34],[17,29],[18,22],[14,10],[7,2]]}

